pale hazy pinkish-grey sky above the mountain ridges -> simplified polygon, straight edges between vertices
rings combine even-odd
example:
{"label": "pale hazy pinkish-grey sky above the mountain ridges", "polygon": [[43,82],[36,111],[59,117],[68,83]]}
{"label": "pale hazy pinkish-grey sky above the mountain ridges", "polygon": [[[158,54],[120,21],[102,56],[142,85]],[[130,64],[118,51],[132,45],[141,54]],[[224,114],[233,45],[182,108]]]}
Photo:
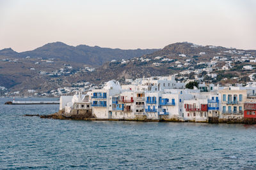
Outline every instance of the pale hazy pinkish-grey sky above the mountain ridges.
{"label": "pale hazy pinkish-grey sky above the mountain ridges", "polygon": [[254,0],[0,0],[0,49],[198,45],[256,50]]}

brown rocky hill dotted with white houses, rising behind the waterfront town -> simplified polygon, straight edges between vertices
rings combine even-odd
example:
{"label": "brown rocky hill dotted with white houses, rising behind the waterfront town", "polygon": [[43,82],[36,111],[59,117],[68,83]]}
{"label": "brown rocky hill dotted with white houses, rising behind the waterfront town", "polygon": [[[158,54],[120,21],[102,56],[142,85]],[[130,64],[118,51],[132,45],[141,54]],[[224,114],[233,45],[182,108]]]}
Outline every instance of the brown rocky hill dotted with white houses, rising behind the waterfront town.
{"label": "brown rocky hill dotted with white houses, rising behind the waterfront town", "polygon": [[[232,52],[234,50],[236,50],[236,53]],[[167,76],[188,69],[202,68],[205,65],[199,63],[209,62],[214,56],[241,57],[245,53],[256,56],[256,50],[237,50],[211,45],[200,46],[187,42],[173,43],[148,55],[129,60],[108,62],[93,73],[77,74],[70,77],[70,81],[100,83],[115,79],[122,82],[125,78]]]}

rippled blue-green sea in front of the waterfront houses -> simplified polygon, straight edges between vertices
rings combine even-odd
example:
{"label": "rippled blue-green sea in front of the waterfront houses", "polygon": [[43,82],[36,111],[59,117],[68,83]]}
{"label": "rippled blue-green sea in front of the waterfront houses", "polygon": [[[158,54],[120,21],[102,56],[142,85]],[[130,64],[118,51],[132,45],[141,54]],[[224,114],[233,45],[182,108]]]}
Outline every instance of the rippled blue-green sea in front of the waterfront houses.
{"label": "rippled blue-green sea in front of the waterfront houses", "polygon": [[[256,169],[256,127],[23,117],[58,105],[4,105],[0,169]],[[57,100],[57,99],[16,99]]]}

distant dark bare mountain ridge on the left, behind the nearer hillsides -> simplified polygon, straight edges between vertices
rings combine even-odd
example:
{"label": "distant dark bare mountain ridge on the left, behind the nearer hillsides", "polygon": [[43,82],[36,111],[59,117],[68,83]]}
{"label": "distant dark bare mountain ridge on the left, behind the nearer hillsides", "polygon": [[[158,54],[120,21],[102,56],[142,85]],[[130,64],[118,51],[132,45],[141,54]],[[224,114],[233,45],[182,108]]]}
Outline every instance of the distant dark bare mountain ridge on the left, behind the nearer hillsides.
{"label": "distant dark bare mountain ridge on the left, behind the nearer hillsides", "polygon": [[65,43],[48,43],[35,50],[14,52],[11,48],[0,51],[0,56],[8,57],[42,57],[44,59],[61,59],[63,61],[80,62],[92,66],[101,66],[111,60],[131,59],[140,57],[159,49],[122,50],[119,48],[101,48],[99,46],[78,45],[70,46]]}

